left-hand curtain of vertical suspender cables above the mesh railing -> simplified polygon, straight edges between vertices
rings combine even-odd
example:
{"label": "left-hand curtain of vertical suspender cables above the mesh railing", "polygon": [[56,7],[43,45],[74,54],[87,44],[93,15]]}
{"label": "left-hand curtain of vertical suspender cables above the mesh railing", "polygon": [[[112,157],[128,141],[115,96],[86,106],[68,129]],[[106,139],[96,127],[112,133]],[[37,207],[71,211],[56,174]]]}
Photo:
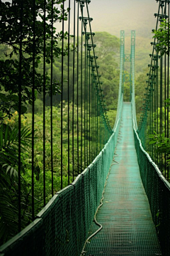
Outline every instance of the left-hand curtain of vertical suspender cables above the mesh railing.
{"label": "left-hand curtain of vertical suspender cables above the mesh railing", "polygon": [[89,4],[0,1],[0,245],[35,220],[113,134]]}

